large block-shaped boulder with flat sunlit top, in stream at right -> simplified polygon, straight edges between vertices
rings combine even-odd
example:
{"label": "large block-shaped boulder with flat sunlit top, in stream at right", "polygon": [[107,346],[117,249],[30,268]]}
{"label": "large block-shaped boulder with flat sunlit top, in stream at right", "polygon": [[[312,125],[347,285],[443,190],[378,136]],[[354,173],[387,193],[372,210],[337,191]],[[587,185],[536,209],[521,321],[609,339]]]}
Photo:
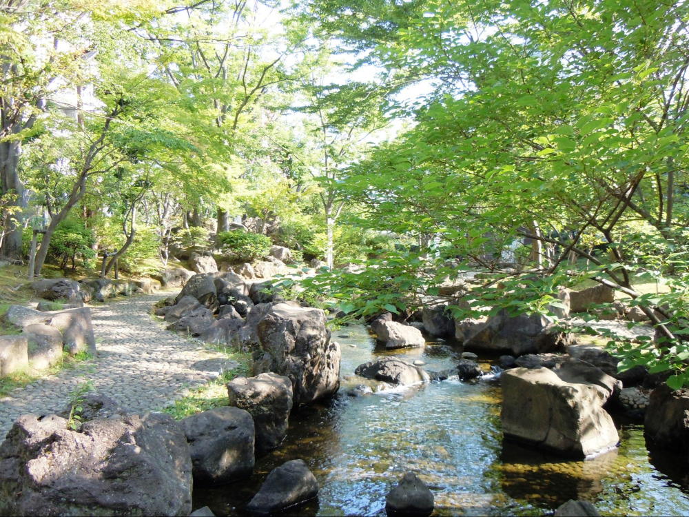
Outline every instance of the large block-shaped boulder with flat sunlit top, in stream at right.
{"label": "large block-shaped boulder with flat sunlit top, in stream at right", "polygon": [[619,381],[584,361],[502,373],[502,429],[506,438],[585,458],[613,449],[617,429],[604,403]]}

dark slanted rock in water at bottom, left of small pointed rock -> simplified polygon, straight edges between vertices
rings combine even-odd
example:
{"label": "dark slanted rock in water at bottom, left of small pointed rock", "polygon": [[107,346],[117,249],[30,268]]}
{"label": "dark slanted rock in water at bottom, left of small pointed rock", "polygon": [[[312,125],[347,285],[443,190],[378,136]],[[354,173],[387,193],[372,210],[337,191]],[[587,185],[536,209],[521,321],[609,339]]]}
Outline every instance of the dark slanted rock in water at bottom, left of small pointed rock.
{"label": "dark slanted rock in water at bottom, left of small pointed rock", "polygon": [[304,460],[291,460],[271,470],[247,510],[267,515],[306,503],[318,495],[318,481]]}

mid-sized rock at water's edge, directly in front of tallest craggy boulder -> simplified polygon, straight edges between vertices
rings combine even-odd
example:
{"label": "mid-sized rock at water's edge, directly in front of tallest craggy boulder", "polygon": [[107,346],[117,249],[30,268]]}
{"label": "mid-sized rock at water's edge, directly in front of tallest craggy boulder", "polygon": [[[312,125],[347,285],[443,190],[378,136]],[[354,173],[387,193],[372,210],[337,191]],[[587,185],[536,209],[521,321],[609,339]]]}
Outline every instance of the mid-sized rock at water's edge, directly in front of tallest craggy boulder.
{"label": "mid-sized rock at water's edge, directly in front of tallest craggy boulder", "polygon": [[229,404],[245,409],[254,418],[256,451],[275,449],[287,436],[292,409],[289,377],[274,373],[256,377],[236,377],[227,383]]}

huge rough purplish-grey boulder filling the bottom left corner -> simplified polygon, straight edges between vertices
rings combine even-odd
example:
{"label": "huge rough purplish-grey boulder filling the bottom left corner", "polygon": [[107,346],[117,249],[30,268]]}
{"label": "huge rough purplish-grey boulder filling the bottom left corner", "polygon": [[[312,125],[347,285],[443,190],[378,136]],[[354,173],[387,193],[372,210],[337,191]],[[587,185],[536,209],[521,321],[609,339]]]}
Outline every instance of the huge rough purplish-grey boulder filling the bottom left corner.
{"label": "huge rough purplish-grey boulder filling the bottom left corner", "polygon": [[23,415],[0,445],[0,514],[185,516],[192,461],[171,416],[97,418],[68,429]]}

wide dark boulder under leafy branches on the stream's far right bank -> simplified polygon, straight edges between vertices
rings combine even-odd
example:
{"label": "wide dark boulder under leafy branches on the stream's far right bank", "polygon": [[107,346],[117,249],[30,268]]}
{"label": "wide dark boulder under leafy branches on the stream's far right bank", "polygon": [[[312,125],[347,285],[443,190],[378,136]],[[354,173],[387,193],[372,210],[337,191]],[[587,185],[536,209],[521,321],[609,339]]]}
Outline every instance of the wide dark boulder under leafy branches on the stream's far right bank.
{"label": "wide dark boulder under leafy branches on the stream's far right bank", "polygon": [[571,341],[546,316],[501,310],[495,316],[466,318],[455,322],[455,338],[465,349],[508,352],[514,356],[555,352]]}

